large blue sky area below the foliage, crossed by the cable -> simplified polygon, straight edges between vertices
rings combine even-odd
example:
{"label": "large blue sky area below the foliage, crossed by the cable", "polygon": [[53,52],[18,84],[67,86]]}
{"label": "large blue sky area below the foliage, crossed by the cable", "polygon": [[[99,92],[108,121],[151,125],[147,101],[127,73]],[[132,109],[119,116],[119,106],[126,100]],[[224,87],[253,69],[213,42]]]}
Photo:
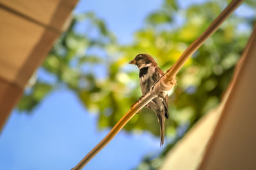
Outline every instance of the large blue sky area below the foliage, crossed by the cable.
{"label": "large blue sky area below the foliage, crossed by the cable", "polygon": [[[96,121],[66,89],[53,92],[32,115],[13,111],[0,138],[0,169],[70,169],[107,134],[97,131]],[[131,169],[157,150],[158,139],[121,132],[86,169]]]}

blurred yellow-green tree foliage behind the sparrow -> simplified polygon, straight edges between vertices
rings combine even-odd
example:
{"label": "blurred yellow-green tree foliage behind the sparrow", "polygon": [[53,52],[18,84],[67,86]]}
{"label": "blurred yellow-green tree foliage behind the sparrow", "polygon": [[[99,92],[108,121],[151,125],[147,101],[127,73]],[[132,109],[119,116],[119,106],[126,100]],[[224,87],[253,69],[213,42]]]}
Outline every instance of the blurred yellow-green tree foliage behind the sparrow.
{"label": "blurred yellow-green tree foliage behind the sparrow", "polygon": [[[145,27],[134,33],[134,41],[129,45],[118,44],[104,22],[93,13],[74,16],[70,28],[58,39],[42,68],[54,75],[58,84],[74,90],[89,112],[99,114],[100,129],[113,127],[141,96],[138,69],[129,66],[129,60],[138,53],[150,53],[166,71],[226,5],[223,1],[207,1],[181,9],[176,1],[166,0],[159,10],[148,15]],[[184,17],[184,22],[177,24],[177,17]],[[178,85],[169,97],[170,119],[166,121],[166,136],[173,142],[166,150],[205,111],[220,102],[250,35],[238,26],[252,28],[252,21],[253,18],[232,15],[177,75]],[[81,23],[85,26],[77,31]],[[31,92],[24,94],[18,108],[32,110],[54,87],[54,83],[38,80]],[[181,134],[177,132],[179,129],[183,129]],[[152,111],[143,109],[125,125],[125,130],[149,131],[157,136],[159,124]],[[141,166],[155,169],[161,162],[158,159],[161,157],[157,160],[147,157]]]}

